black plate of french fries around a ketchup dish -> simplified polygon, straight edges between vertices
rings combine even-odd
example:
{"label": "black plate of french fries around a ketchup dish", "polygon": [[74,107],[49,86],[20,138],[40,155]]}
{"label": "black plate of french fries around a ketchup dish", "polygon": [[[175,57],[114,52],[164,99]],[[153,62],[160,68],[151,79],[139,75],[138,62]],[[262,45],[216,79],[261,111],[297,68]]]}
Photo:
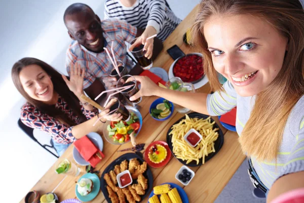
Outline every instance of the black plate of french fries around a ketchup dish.
{"label": "black plate of french fries around a ketchup dish", "polygon": [[[186,116],[184,116],[170,127],[167,132],[167,143],[173,156],[179,162],[186,166],[199,166],[211,159],[221,149],[224,143],[224,135],[210,116],[197,112],[187,115],[187,122],[180,123],[180,121],[186,119]],[[198,121],[199,119],[204,120]],[[213,122],[214,124],[212,124]],[[203,136],[203,140],[195,148],[189,146],[183,140],[184,135],[191,128],[196,129]],[[172,139],[174,143],[172,143]],[[207,146],[207,149],[205,146]]]}

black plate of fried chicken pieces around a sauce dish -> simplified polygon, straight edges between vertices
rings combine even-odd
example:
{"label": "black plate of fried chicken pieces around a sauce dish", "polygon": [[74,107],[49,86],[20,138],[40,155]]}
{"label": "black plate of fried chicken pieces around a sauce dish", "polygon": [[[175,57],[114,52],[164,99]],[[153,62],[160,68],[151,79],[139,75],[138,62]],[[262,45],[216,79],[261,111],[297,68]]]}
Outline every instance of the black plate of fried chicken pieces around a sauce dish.
{"label": "black plate of fried chicken pieces around a sauce dish", "polygon": [[[116,165],[119,165],[120,167],[121,167],[121,163],[122,162],[124,162],[125,160],[126,161],[128,161],[128,165],[127,165],[127,169],[124,169],[124,167],[126,167],[126,165],[122,165],[123,166],[123,170],[129,170],[130,172],[131,171],[133,171],[131,168],[130,168],[130,160],[131,159],[134,159],[134,158],[136,158],[137,160],[138,160],[138,164],[140,165],[138,165],[138,164],[133,164],[133,165],[137,165],[137,166],[139,166],[139,167],[134,167],[133,166],[133,169],[134,168],[138,168],[138,170],[141,170],[142,168],[145,168],[145,167],[143,167],[145,164],[144,164],[144,160],[140,157],[140,156],[138,156],[137,154],[135,154],[135,153],[126,153],[126,154],[123,154],[122,156],[120,156],[120,157],[118,157],[117,159],[115,159],[113,162],[111,162],[106,168],[105,168],[105,170],[103,171],[103,173],[102,173],[102,175],[101,175],[101,178],[100,178],[100,189],[101,189],[101,191],[102,191],[102,193],[103,193],[103,195],[104,195],[104,197],[105,197],[105,199],[107,200],[107,202],[111,202],[111,203],[116,203],[116,202],[120,202],[120,200],[119,199],[116,199],[116,200],[118,200],[118,201],[112,201],[111,200],[111,198],[109,197],[109,193],[108,193],[108,189],[107,189],[107,187],[106,186],[108,186],[108,184],[107,184],[107,181],[106,181],[106,179],[107,178],[105,178],[105,175],[106,174],[108,174],[109,175],[109,178],[108,179],[110,179],[110,180],[113,180],[112,179],[112,176],[113,176],[113,174],[118,174],[119,172],[122,172],[122,171],[116,171],[116,170],[118,170],[118,168],[115,168],[115,166]],[[146,163],[146,162],[145,162]],[[118,166],[117,166],[118,167]],[[111,172],[111,175],[110,175],[110,171],[112,171]],[[133,175],[136,173],[136,171],[137,171],[137,169],[134,169],[134,173],[131,173],[132,174],[132,177],[133,177]],[[139,172],[138,174],[140,174],[141,172]],[[116,175],[115,175],[115,178],[116,178]],[[151,170],[149,169],[149,167],[148,167],[148,165],[146,164],[146,170],[142,173],[142,175],[143,175],[143,177],[145,178],[145,179],[147,179],[147,184],[146,184],[146,189],[144,189],[143,187],[141,187],[141,182],[139,182],[138,180],[137,180],[137,178],[136,179],[134,179],[133,178],[133,183],[130,185],[131,187],[132,187],[132,185],[136,185],[136,190],[135,190],[135,187],[134,187],[134,190],[133,190],[133,192],[134,193],[137,193],[138,191],[140,191],[141,189],[141,192],[143,192],[144,191],[144,194],[141,194],[141,195],[139,195],[138,193],[137,193],[137,198],[139,198],[140,197],[140,200],[139,199],[137,199],[138,201],[136,201],[136,202],[141,202],[142,201],[142,199],[144,199],[147,195],[149,195],[149,193],[153,190],[153,175],[152,175],[152,172],[151,172]],[[118,186],[118,184],[115,184],[113,181],[112,181],[112,183],[114,184],[114,186],[115,187],[117,187],[117,188],[119,188],[119,186]],[[138,188],[139,187],[139,188]],[[141,189],[140,189],[140,187],[141,187]],[[111,188],[111,187],[110,187]],[[129,187],[127,186],[127,187],[125,187],[125,188],[127,188],[128,190],[129,190]],[[124,188],[124,189],[125,189]],[[120,188],[119,188],[120,189]],[[129,190],[130,191],[130,190]],[[113,194],[113,196],[117,196],[117,197],[119,197],[119,194],[118,193],[120,193],[120,192],[116,192],[116,191],[111,191],[111,192],[113,192],[113,193],[115,193],[115,194]],[[131,192],[131,191],[130,191]],[[123,193],[125,193],[125,192],[123,192]],[[140,192],[139,192],[140,193]],[[131,196],[133,196],[133,194],[132,193],[130,193],[131,194]],[[128,199],[127,199],[127,197],[126,197],[126,195],[121,195],[121,196],[124,196],[124,198],[125,198],[125,201],[126,202],[129,202],[128,201]],[[138,197],[139,196],[139,197]],[[112,197],[113,198],[113,197]],[[121,198],[121,197],[120,197]],[[135,198],[134,196],[133,196],[133,198]],[[113,198],[113,199],[115,199],[115,198]]]}

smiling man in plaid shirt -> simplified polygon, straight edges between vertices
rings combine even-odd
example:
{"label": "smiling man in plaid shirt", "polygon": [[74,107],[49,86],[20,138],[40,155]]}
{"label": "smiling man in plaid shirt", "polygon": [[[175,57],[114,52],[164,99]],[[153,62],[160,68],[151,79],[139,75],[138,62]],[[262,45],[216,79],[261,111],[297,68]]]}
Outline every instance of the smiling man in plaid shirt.
{"label": "smiling man in plaid shirt", "polygon": [[[140,36],[143,32],[142,29],[119,19],[101,21],[89,6],[80,3],[72,4],[66,9],[64,23],[70,38],[73,40],[66,53],[67,73],[70,75],[71,63],[80,63],[81,67],[85,68],[84,89],[91,98],[95,98],[101,91],[105,90],[101,81],[107,87],[116,84],[116,82],[113,82],[115,79],[103,77],[113,69],[112,63],[103,49],[104,47],[110,52],[113,42],[116,59],[122,60],[128,71],[132,69],[133,62],[127,57],[125,42],[131,42],[134,38]],[[156,39],[156,41],[159,40]],[[147,52],[146,55],[149,58],[152,54],[154,57],[158,55],[153,51],[153,43],[152,49],[147,51],[149,53]],[[101,102],[101,100],[98,100],[98,103]]]}

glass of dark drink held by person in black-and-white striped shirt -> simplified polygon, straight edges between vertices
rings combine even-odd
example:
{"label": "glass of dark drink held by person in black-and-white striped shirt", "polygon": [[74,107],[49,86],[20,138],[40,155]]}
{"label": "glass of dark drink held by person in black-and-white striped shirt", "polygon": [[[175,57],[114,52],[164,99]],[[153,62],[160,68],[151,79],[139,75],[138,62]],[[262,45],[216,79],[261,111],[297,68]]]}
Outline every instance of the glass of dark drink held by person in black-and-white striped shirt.
{"label": "glass of dark drink held by person in black-and-white striped shirt", "polygon": [[[134,44],[136,40],[137,40],[137,38],[135,38],[132,42],[130,42],[130,45],[128,48],[130,48],[130,46],[132,44]],[[133,54],[133,56],[136,58],[137,62],[142,67],[142,69],[149,70],[152,67],[153,62],[151,59],[148,59],[144,56],[147,51],[143,50],[143,47],[144,47],[144,45],[140,44],[137,47],[135,47],[133,50],[130,50],[130,51]]]}

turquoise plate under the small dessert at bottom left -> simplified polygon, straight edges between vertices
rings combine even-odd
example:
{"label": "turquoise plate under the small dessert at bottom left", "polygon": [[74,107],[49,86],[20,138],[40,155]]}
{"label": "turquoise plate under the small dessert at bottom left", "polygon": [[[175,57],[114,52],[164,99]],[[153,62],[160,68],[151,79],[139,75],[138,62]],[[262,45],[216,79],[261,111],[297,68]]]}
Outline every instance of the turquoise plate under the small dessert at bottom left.
{"label": "turquoise plate under the small dessert at bottom left", "polygon": [[94,199],[97,194],[99,193],[99,188],[100,188],[100,181],[99,181],[99,177],[96,174],[91,174],[91,173],[87,173],[85,175],[83,175],[82,177],[80,177],[80,179],[78,180],[78,182],[82,179],[82,178],[88,178],[91,179],[93,181],[93,189],[92,191],[86,195],[86,196],[82,196],[81,194],[79,194],[79,192],[77,191],[78,185],[76,185],[75,187],[75,193],[76,196],[79,200],[81,201],[91,201],[92,199]]}

